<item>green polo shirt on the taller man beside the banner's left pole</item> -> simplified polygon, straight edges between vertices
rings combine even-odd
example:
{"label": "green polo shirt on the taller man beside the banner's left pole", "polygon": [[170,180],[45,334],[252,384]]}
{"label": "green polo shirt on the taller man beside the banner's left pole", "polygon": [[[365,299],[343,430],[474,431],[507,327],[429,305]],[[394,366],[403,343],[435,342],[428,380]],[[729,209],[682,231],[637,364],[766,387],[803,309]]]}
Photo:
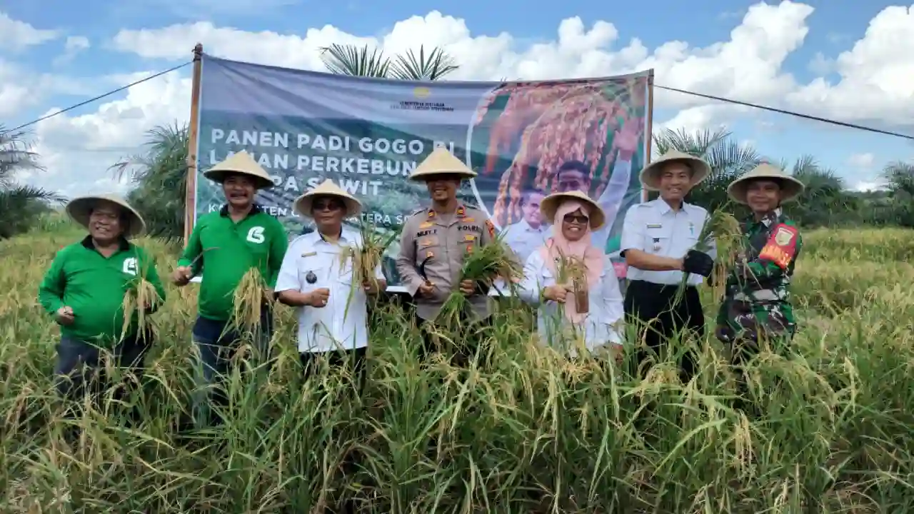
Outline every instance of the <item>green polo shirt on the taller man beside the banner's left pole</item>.
{"label": "green polo shirt on the taller man beside the banner's left pole", "polygon": [[197,220],[177,265],[193,263],[195,275],[203,272],[197,299],[199,315],[228,321],[241,277],[256,267],[266,286],[274,287],[287,248],[289,238],[282,223],[260,207],[255,205],[237,223],[228,216],[228,207],[223,207]]}

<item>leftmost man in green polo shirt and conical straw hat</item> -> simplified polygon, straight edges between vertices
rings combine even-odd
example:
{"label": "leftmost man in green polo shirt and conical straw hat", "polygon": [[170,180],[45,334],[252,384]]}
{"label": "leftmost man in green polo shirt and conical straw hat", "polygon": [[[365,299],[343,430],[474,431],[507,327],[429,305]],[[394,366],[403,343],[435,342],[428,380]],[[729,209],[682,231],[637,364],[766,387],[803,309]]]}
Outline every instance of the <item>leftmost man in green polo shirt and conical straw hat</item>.
{"label": "leftmost man in green polo shirt and conical straw hat", "polygon": [[[87,385],[96,395],[112,385],[103,375],[101,350],[110,351],[117,366],[142,371],[153,335],[136,327],[135,315],[124,330],[124,294],[140,278],[153,284],[158,298],[143,305],[151,313],[165,301],[165,289],[153,256],[127,241],[145,224],[125,201],[108,195],[76,198],[67,212],[89,235],[57,253],[38,287],[38,302],[60,326],[54,374],[58,392],[72,399]],[[92,378],[91,372],[98,374]],[[116,394],[124,393],[118,388]]]}

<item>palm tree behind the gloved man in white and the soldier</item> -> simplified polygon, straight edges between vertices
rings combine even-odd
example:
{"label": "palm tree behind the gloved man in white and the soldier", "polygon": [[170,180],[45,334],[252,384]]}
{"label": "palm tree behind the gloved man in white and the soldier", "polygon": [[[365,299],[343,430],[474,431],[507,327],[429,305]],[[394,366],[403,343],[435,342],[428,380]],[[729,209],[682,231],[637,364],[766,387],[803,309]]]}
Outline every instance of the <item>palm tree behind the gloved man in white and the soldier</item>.
{"label": "palm tree behind the gloved man in white and the soldier", "polygon": [[695,133],[665,129],[660,134],[654,134],[654,152],[663,155],[670,150],[696,155],[705,159],[711,166],[711,175],[689,194],[689,202],[708,210],[715,210],[727,204],[729,183],[753,167],[759,166],[762,161],[755,148],[750,145],[739,145],[732,134],[723,129]]}

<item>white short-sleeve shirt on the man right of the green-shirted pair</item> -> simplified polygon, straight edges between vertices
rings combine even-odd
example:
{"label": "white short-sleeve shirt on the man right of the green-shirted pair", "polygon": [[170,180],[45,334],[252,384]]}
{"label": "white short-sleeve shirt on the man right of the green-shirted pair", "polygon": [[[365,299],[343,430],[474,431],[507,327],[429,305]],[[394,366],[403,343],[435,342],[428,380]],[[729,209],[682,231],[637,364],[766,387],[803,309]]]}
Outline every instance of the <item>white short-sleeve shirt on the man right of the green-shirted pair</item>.
{"label": "white short-sleeve shirt on the man right of the green-shirted pair", "polygon": [[[362,284],[353,284],[352,259],[344,260],[341,255],[347,247],[357,248],[361,243],[358,232],[345,227],[338,243],[324,241],[317,230],[289,243],[276,279],[276,292],[309,293],[319,288],[330,291],[323,307],[296,307],[300,352],[367,347],[367,295]],[[379,265],[375,277],[384,279]]]}

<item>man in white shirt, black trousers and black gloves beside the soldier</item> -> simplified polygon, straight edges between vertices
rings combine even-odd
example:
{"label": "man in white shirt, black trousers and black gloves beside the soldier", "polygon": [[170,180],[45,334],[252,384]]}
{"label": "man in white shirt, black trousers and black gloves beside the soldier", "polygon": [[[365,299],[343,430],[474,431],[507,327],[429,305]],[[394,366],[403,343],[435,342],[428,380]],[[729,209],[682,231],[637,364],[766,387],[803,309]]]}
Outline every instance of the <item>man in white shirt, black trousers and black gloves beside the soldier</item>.
{"label": "man in white shirt, black trousers and black gloves beside the soldier", "polygon": [[[638,328],[638,344],[644,341],[649,348],[638,351],[639,369],[651,358],[650,350],[659,352],[667,339],[682,330],[690,332],[693,341],[704,339],[705,316],[696,286],[702,283],[703,276],[711,274],[717,247],[711,240],[709,253],[694,250],[707,210],[686,203],[683,198],[710,172],[710,166],[698,157],[675,150],[667,152],[641,172],[643,186],[659,191],[660,198],[633,205],[625,214],[621,244],[622,256],[629,266],[625,315]],[[675,303],[683,273],[689,273],[685,294]],[[696,372],[691,348],[686,347],[682,356],[683,383]]]}

